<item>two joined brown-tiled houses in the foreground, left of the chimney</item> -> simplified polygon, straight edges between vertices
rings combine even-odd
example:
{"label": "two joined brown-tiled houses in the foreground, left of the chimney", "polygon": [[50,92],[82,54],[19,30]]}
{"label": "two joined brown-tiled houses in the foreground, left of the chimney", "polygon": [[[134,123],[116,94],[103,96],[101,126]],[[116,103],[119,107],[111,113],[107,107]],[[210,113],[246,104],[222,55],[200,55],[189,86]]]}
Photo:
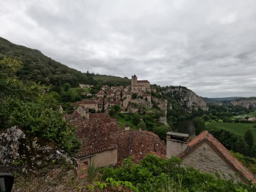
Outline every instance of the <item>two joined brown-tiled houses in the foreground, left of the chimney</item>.
{"label": "two joined brown-tiled houses in the foreground, left of the chimney", "polygon": [[82,147],[77,159],[84,164],[92,161],[97,166],[114,165],[132,156],[139,163],[150,152],[166,155],[166,145],[153,132],[122,131],[117,120],[108,113],[89,113],[88,119],[81,118],[77,111],[70,120],[78,127],[76,136]]}

